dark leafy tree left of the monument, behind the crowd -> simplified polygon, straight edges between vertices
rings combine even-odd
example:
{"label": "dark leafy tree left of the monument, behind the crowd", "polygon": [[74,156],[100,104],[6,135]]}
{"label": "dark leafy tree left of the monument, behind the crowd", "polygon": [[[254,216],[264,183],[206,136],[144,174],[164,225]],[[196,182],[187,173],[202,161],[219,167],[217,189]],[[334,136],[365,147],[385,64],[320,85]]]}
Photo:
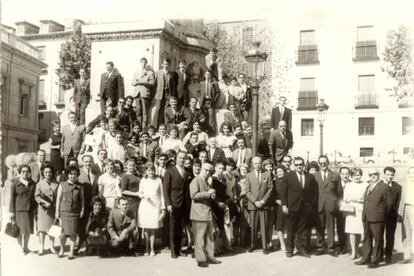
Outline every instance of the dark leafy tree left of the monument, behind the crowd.
{"label": "dark leafy tree left of the monument, behind the crowd", "polygon": [[74,80],[79,78],[79,69],[84,68],[89,78],[91,68],[91,42],[82,34],[82,25],[77,24],[73,28],[70,40],[62,43],[59,54],[56,74],[59,84],[64,89],[73,87]]}

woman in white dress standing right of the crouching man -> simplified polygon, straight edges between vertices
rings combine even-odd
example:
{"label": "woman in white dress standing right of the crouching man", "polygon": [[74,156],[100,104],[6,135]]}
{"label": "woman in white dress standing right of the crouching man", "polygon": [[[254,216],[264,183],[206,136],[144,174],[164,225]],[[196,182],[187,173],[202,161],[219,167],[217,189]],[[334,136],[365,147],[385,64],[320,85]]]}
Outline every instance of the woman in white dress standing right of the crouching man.
{"label": "woman in white dress standing right of the crouching man", "polygon": [[155,166],[148,162],[145,164],[145,176],[139,185],[138,195],[141,204],[138,210],[138,226],[144,229],[145,252],[155,256],[154,241],[155,230],[163,227],[166,214],[162,181],[155,174]]}

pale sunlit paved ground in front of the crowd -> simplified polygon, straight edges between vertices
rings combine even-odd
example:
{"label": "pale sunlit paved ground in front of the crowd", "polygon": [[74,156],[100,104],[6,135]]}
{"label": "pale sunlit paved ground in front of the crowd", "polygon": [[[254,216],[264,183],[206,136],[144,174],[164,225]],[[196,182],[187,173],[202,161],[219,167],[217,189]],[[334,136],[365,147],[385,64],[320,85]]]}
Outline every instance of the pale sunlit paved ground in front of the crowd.
{"label": "pale sunlit paved ground in front of the crowd", "polygon": [[[79,257],[69,261],[59,259],[56,255],[36,254],[22,256],[15,240],[1,234],[1,270],[4,276],[106,276],[106,275],[414,275],[414,264],[392,264],[375,270],[357,266],[349,260],[348,255],[333,258],[328,255],[312,256],[311,259],[293,257],[287,259],[281,252],[264,256],[261,251],[224,256],[220,265],[198,268],[191,257],[171,259],[168,253],[155,257]],[[37,239],[31,238],[30,248],[37,250]],[[399,260],[401,254],[396,254]]]}

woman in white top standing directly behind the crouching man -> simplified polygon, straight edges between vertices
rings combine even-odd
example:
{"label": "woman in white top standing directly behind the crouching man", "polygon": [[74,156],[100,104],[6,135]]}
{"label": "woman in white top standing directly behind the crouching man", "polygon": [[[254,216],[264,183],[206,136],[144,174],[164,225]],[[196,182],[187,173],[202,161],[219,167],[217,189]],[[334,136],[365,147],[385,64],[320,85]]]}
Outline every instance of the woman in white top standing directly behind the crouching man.
{"label": "woman in white top standing directly behind the crouching man", "polygon": [[121,195],[119,186],[121,177],[114,170],[114,162],[106,159],[104,162],[105,173],[98,178],[99,194],[105,198],[106,207],[115,208],[116,198]]}

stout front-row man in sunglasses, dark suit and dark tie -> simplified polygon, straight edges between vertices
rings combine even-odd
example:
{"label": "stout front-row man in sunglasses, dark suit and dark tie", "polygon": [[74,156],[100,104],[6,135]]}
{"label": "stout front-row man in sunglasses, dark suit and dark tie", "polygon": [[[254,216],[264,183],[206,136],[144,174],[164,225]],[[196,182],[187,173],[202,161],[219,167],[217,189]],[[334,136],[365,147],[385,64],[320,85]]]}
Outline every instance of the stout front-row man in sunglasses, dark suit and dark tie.
{"label": "stout front-row man in sunglasses, dark suit and dark tie", "polygon": [[302,157],[296,157],[293,163],[295,171],[284,176],[280,193],[283,213],[288,215],[286,256],[293,256],[296,237],[298,253],[309,258],[306,234],[309,216],[318,209],[318,183],[313,175],[304,172]]}

